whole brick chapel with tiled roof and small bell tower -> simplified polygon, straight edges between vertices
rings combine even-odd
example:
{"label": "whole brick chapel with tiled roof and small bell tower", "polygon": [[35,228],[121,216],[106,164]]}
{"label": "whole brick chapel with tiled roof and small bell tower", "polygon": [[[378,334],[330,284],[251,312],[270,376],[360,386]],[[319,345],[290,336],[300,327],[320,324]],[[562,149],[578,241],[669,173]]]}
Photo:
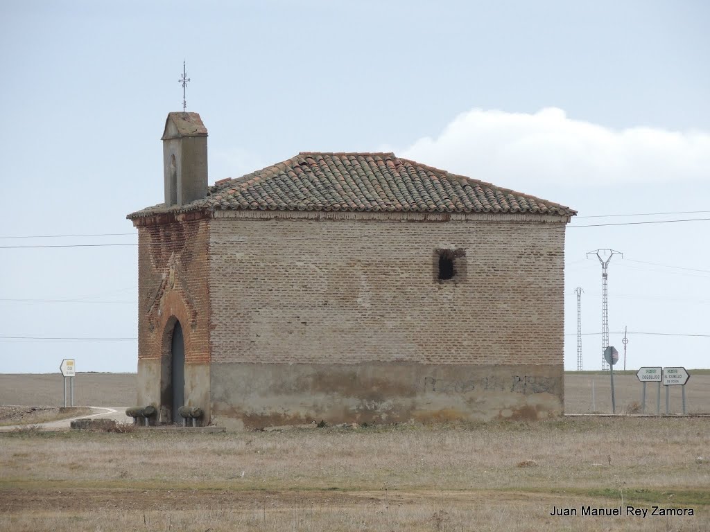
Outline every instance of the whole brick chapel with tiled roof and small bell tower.
{"label": "whole brick chapel with tiled roof and small bell tower", "polygon": [[209,185],[170,113],[138,228],[138,404],[152,423],[562,414],[575,211],[393,153],[305,152]]}

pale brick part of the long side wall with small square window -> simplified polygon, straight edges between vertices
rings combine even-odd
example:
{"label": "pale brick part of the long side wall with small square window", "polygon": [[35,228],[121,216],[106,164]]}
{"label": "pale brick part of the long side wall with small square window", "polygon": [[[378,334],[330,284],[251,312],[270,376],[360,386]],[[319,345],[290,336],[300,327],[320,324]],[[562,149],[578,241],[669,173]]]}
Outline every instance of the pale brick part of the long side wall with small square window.
{"label": "pale brick part of the long side wall with small square window", "polygon": [[[209,222],[213,362],[562,365],[564,218],[231,216]],[[463,279],[436,279],[440,249]]]}

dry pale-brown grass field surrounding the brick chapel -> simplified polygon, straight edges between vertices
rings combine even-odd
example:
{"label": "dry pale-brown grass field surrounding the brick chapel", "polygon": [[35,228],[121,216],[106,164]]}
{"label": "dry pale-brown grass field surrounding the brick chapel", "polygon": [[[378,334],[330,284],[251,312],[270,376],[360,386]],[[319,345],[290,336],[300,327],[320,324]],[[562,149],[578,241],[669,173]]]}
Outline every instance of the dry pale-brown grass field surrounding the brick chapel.
{"label": "dry pale-brown grass field surrounding the brick chapel", "polygon": [[[594,375],[597,410],[604,377]],[[568,410],[590,411],[589,378],[567,376]],[[632,384],[620,404],[640,399]],[[587,506],[622,514],[582,516]],[[653,506],[694,515],[651,516]],[[710,418],[0,433],[0,530],[707,531]]]}

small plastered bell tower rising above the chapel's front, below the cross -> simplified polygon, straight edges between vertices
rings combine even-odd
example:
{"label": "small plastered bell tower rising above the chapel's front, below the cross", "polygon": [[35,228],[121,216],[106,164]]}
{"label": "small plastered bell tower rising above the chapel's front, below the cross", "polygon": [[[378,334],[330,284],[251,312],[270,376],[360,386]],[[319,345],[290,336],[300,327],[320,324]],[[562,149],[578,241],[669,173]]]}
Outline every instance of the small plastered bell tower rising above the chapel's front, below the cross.
{"label": "small plastered bell tower rising above the chapel's front, below the cross", "polygon": [[163,131],[165,206],[207,196],[207,128],[197,113],[168,113]]}

